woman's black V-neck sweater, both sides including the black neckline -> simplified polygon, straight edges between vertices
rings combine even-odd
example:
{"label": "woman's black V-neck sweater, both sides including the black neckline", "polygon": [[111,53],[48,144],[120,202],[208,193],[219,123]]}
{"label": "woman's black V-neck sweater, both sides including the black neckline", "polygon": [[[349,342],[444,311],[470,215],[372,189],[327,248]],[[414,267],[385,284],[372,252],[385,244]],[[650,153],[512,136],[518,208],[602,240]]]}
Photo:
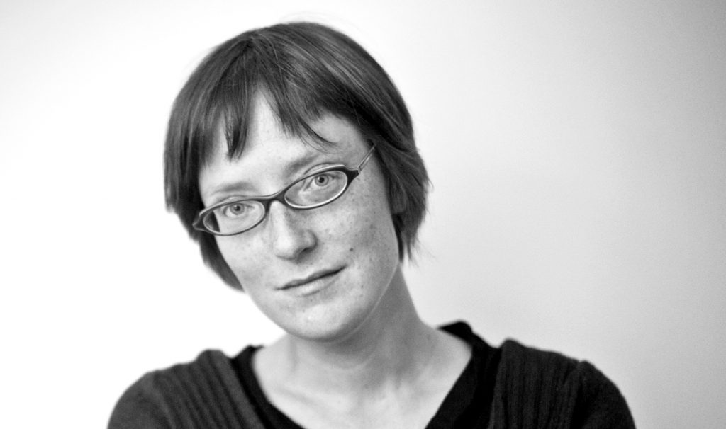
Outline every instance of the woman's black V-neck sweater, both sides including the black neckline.
{"label": "woman's black V-neck sweater, both sides including the black neckline", "polygon": [[[468,341],[473,356],[427,428],[635,428],[616,386],[590,363],[511,340],[494,349],[465,323],[444,329]],[[108,428],[295,427],[261,394],[248,367],[253,351],[235,359],[205,351],[144,375]]]}

